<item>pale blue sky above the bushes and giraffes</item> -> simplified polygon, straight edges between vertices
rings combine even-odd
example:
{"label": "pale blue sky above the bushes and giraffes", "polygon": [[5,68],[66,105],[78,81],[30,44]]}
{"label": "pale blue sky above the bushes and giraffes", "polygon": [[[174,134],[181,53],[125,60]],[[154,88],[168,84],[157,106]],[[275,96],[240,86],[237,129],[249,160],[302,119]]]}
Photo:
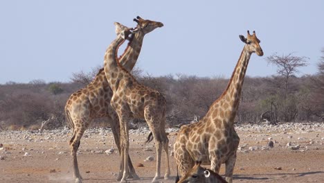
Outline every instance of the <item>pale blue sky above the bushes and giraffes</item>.
{"label": "pale blue sky above the bushes and giraffes", "polygon": [[145,36],[138,58],[153,76],[230,77],[244,46],[238,35],[248,29],[264,50],[251,57],[249,76],[271,76],[276,68],[264,58],[291,52],[310,58],[301,74],[316,73],[324,47],[320,0],[0,1],[0,84],[69,82],[72,73],[103,65],[114,21],[136,26],[137,15],[164,24]]}

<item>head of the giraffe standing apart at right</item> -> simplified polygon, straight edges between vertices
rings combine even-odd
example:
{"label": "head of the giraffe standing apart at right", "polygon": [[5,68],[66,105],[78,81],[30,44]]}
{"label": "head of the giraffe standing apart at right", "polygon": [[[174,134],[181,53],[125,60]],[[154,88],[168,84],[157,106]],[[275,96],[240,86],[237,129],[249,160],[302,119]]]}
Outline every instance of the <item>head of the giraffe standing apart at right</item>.
{"label": "head of the giraffe standing apart at right", "polygon": [[245,38],[244,35],[240,35],[240,39],[242,42],[246,44],[246,49],[250,53],[257,53],[257,55],[262,56],[263,51],[260,46],[260,40],[255,35],[255,31],[253,31],[253,35],[250,35],[249,30],[247,31],[247,37]]}

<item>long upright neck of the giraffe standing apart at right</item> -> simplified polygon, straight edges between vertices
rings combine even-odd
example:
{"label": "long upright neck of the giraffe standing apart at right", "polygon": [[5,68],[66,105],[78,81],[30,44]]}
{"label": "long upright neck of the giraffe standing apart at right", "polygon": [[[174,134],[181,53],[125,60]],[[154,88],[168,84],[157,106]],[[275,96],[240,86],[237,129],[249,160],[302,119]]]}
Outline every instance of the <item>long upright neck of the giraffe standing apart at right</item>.
{"label": "long upright neck of the giraffe standing apart at right", "polygon": [[213,108],[218,108],[218,115],[220,116],[220,119],[222,119],[223,123],[227,123],[227,125],[233,125],[237,108],[240,103],[244,76],[250,58],[251,53],[246,51],[244,46],[240,59],[237,61],[236,67],[230,81],[228,82],[225,92],[219,97],[219,99],[217,99],[217,101],[215,101],[215,103],[213,103],[213,107],[210,108],[210,110],[213,110]]}

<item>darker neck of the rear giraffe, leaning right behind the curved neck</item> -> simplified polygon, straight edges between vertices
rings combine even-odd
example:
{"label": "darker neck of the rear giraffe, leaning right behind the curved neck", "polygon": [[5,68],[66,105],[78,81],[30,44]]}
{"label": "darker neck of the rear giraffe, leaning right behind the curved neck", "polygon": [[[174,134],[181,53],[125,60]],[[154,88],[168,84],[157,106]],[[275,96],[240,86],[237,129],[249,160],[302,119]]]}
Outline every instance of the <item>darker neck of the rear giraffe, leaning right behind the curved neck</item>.
{"label": "darker neck of the rear giraffe, leaning right behind the curved neck", "polygon": [[119,58],[119,64],[127,71],[132,71],[143,45],[144,34],[141,31],[132,35],[125,52]]}

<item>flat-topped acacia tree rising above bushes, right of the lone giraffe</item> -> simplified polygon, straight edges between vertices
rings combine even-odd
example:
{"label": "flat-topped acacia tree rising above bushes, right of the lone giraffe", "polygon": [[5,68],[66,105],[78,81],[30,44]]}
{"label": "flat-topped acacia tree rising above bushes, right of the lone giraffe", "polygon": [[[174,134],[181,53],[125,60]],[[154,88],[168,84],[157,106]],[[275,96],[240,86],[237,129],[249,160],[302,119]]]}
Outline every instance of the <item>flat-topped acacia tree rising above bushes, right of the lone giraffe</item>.
{"label": "flat-topped acacia tree rising above bushes, right of the lone giraffe", "polygon": [[296,106],[296,97],[294,94],[289,94],[289,81],[299,72],[299,67],[307,66],[307,60],[309,58],[295,56],[293,53],[289,53],[288,55],[278,55],[277,53],[274,53],[265,59],[269,64],[273,64],[277,67],[278,76],[273,77],[277,77],[278,82],[283,82],[280,84],[283,85],[283,92],[280,92],[281,94],[277,95],[280,98],[278,98],[279,100],[277,100],[278,103],[276,104],[279,105],[278,109],[280,109],[282,119],[285,121],[292,121],[296,119],[298,110]]}

